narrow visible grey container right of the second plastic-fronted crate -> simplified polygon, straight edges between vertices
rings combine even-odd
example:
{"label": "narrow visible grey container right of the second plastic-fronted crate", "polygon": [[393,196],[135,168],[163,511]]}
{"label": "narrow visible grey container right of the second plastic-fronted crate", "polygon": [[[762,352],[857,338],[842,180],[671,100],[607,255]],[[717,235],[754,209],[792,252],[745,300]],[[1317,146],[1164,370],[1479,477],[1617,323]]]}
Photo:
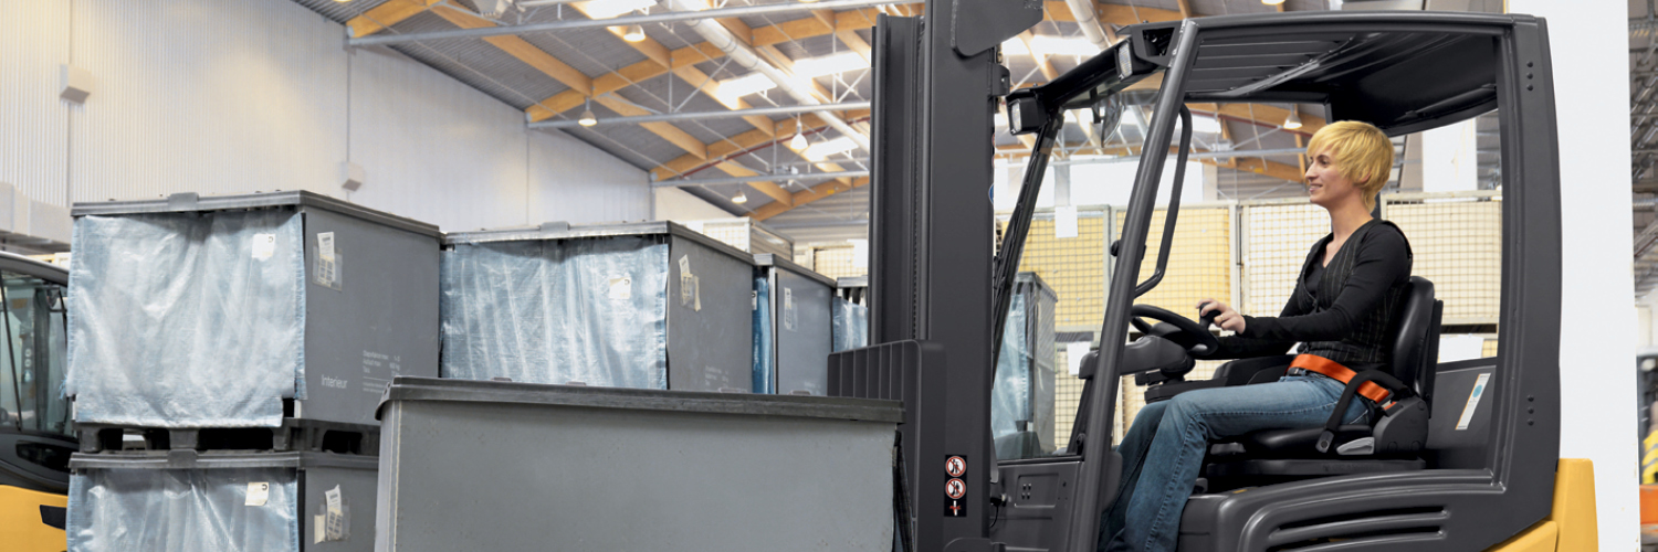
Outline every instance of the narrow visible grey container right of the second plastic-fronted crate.
{"label": "narrow visible grey container right of the second plastic-fronted crate", "polygon": [[[834,280],[783,255],[754,255],[754,393],[829,391]],[[759,383],[764,381],[764,386]]]}

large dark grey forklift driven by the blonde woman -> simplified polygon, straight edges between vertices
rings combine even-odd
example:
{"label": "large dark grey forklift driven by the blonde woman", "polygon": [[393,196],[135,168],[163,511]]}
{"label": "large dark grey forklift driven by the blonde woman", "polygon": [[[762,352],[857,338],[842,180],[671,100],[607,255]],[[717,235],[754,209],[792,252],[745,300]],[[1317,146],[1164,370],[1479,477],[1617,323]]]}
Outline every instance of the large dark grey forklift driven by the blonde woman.
{"label": "large dark grey forklift driven by the blonde woman", "polygon": [[[1101,514],[1122,472],[1111,448],[1122,376],[1169,398],[1270,375],[1237,361],[1214,380],[1185,381],[1192,356],[1214,346],[1212,330],[1134,305],[1162,280],[1176,245],[1187,103],[1316,103],[1333,121],[1389,136],[1497,111],[1507,224],[1497,356],[1437,363],[1439,302],[1433,282],[1414,278],[1388,385],[1404,408],[1363,426],[1215,443],[1209,484],[1184,509],[1179,550],[1595,549],[1592,467],[1559,456],[1560,171],[1542,18],[1310,12],[1142,23],[1116,30],[1109,50],[1053,81],[1010,90],[998,45],[1041,10],[927,2],[924,17],[880,15],[875,25],[872,345],[831,355],[829,395],[904,401],[897,550],[1096,550],[1109,539]],[[1089,109],[1106,136],[1136,85],[1156,88],[1152,119],[1111,245],[1099,351],[1083,361],[1071,441],[1058,456],[996,459],[993,360],[1064,113]],[[988,194],[998,111],[1011,133],[1036,138],[1000,250]],[[1141,280],[1171,154],[1179,162],[1162,247]],[[1132,343],[1131,325],[1141,330]]]}

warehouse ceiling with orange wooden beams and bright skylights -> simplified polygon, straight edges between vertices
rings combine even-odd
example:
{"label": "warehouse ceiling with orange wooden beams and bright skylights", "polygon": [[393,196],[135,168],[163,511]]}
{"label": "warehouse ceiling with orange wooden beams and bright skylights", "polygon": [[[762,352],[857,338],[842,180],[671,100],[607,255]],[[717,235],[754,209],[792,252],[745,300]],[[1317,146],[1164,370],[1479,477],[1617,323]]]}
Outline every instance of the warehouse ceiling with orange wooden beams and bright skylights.
{"label": "warehouse ceiling with orange wooden beams and bright skylights", "polygon": [[[811,177],[812,172],[867,171],[867,153],[852,148],[839,154],[807,159],[793,139],[797,128],[804,131],[806,146],[834,143],[844,131],[867,136],[869,109],[837,109],[846,124],[829,124],[816,114],[753,114],[695,116],[648,124],[610,124],[607,119],[655,114],[710,114],[734,108],[791,108],[802,101],[779,88],[749,93],[739,98],[718,98],[721,83],[754,73],[744,68],[738,55],[715,48],[693,25],[708,20],[685,20],[642,25],[645,38],[627,41],[623,27],[565,28],[554,31],[502,33],[489,38],[434,38],[423,36],[458,28],[486,30],[492,27],[545,25],[557,22],[589,20],[589,13],[605,18],[605,10],[625,8],[628,0],[597,0],[579,3],[550,3],[549,0],[514,0],[501,15],[481,15],[482,8],[497,7],[499,0],[295,0],[323,17],[347,25],[356,38],[391,40],[396,43],[373,48],[391,48],[438,71],[443,71],[479,91],[526,111],[536,121],[557,121],[564,131],[599,149],[613,154],[640,169],[650,171],[658,182],[673,179],[739,179],[748,182],[696,184],[681,189],[726,209],[731,214],[751,215],[789,234],[797,244],[836,242],[867,235],[869,182],[864,176],[839,179]],[[547,5],[532,5],[545,2]],[[638,12],[628,15],[660,15],[683,8],[681,2],[711,0],[633,0]],[[1258,12],[1326,10],[1338,0],[1287,0],[1282,7],[1263,5],[1260,0],[1111,0],[1098,3],[1098,17],[1109,33],[1116,25],[1136,22],[1179,20],[1184,15],[1235,15]],[[713,8],[771,5],[776,0],[725,0]],[[620,5],[622,8],[613,8]],[[1633,3],[1631,3],[1633,5]],[[1068,40],[1069,46],[1081,43],[1084,31],[1064,2],[1046,2],[1046,18],[1030,33],[1010,41],[1005,48],[1006,65],[1016,86],[1033,86],[1076,66],[1086,56],[1066,55],[1050,41]],[[761,63],[776,70],[801,75],[804,60],[822,60],[834,55],[861,56],[861,68],[811,78],[801,83],[804,94],[819,103],[864,103],[870,98],[870,71],[867,70],[870,27],[877,13],[912,15],[922,3],[890,3],[847,10],[786,12],[748,15],[716,20],[723,31],[739,41],[739,48],[754,51]],[[1025,46],[1026,51],[1015,53]],[[1093,50],[1083,50],[1093,51]],[[1633,55],[1631,55],[1633,60]],[[768,81],[769,83],[769,81]],[[574,126],[585,111],[600,121],[595,126]],[[1199,111],[1194,124],[1195,148],[1200,151],[1258,151],[1293,149],[1323,124],[1323,109],[1315,104],[1297,106],[1297,114],[1307,126],[1290,131],[1283,128],[1292,106],[1210,106]],[[1141,116],[1147,116],[1146,111]],[[1127,119],[1127,118],[1126,118]],[[1219,124],[1215,124],[1219,123]],[[1494,124],[1494,123],[1492,123]],[[1083,126],[1069,126],[1063,136],[1064,156],[1086,159],[1089,156],[1121,156],[1136,148],[1142,124],[1121,124],[1111,136],[1088,136]],[[1484,136],[1486,133],[1482,133]],[[1494,134],[1482,138],[1481,149],[1496,151]],[[865,138],[867,139],[867,138]],[[1399,162],[1406,162],[1403,139]],[[1021,162],[1023,143],[1006,129],[996,129],[998,156]],[[1491,157],[1491,159],[1486,159]],[[1496,159],[1482,154],[1481,174],[1496,169]],[[1267,157],[1205,159],[1217,167],[1220,199],[1278,197],[1300,194],[1302,169],[1298,156],[1275,154]],[[1394,171],[1399,174],[1403,171]],[[758,176],[789,174],[794,179],[759,181]],[[799,176],[796,176],[799,174]],[[741,197],[743,202],[733,199]]]}

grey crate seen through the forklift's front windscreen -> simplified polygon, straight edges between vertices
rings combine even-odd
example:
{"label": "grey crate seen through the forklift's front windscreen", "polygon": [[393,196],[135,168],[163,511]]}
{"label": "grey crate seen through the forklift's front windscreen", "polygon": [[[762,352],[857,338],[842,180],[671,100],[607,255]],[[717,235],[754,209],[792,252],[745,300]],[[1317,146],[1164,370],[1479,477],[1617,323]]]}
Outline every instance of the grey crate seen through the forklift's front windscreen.
{"label": "grey crate seen through the forklift's front windscreen", "polygon": [[1040,277],[1013,280],[1008,320],[990,391],[990,431],[998,459],[1054,451],[1054,308],[1059,297]]}

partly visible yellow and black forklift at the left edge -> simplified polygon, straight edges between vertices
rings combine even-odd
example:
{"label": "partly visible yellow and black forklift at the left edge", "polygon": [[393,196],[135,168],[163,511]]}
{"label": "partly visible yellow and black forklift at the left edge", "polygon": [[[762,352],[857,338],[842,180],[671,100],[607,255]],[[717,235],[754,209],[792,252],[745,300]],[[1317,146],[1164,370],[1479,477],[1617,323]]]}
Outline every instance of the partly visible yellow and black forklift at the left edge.
{"label": "partly visible yellow and black forklift at the left edge", "polygon": [[0,252],[0,542],[65,549],[70,454],[80,449],[70,401],[63,267]]}

